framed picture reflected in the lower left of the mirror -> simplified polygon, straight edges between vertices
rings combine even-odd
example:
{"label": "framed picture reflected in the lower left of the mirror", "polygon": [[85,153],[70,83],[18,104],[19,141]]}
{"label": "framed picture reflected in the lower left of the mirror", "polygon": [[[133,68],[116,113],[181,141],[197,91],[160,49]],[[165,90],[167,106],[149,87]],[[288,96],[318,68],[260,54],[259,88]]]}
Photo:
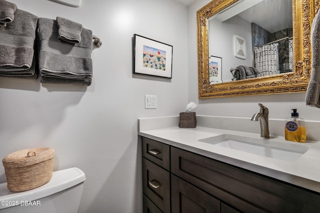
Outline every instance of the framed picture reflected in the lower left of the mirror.
{"label": "framed picture reflected in the lower left of the mirror", "polygon": [[222,58],[212,55],[209,57],[209,81],[210,84],[222,82]]}

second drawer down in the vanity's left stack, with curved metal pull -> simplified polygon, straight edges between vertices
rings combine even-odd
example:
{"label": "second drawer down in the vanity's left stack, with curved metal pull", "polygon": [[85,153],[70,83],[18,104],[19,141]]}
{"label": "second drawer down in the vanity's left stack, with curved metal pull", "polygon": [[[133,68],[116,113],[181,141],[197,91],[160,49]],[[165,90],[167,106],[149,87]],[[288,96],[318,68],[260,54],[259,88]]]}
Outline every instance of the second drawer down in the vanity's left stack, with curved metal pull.
{"label": "second drawer down in the vanity's left stack, with curved metal pull", "polygon": [[170,174],[145,158],[142,158],[142,189],[162,212],[170,212]]}

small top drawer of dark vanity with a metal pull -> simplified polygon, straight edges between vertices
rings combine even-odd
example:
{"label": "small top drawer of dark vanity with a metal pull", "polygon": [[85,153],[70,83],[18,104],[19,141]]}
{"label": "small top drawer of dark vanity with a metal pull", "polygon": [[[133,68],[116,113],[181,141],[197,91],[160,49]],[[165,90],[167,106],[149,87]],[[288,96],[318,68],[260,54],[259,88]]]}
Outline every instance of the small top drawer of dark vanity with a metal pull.
{"label": "small top drawer of dark vanity with a metal pull", "polygon": [[142,156],[160,167],[170,170],[170,146],[142,137]]}

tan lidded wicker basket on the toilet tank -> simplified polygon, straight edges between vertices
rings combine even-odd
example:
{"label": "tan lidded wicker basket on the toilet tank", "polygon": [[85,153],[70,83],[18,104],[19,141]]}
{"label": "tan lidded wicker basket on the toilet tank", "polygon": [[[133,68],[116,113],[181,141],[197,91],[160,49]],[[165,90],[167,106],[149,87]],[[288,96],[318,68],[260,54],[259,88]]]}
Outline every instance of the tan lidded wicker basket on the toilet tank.
{"label": "tan lidded wicker basket on the toilet tank", "polygon": [[41,147],[20,150],[2,160],[7,188],[22,192],[49,182],[52,176],[54,150]]}

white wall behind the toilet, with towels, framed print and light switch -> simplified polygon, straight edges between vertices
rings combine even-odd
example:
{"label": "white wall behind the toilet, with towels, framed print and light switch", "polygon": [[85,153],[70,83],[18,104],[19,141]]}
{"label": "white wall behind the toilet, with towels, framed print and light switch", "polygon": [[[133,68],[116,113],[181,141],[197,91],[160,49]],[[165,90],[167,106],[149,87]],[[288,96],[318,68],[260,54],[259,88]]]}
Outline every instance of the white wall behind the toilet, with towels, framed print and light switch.
{"label": "white wall behind the toilet, with towels, framed print and light switch", "polygon": [[[187,7],[172,0],[9,0],[39,17],[79,22],[102,41],[92,51],[89,87],[0,78],[0,158],[31,147],[55,149],[54,170],[86,175],[80,213],[141,213],[137,118],[178,115],[187,98]],[[173,45],[172,79],[132,75],[132,36]],[[144,95],[157,109],[144,109]],[[0,183],[5,182],[0,167]]]}

